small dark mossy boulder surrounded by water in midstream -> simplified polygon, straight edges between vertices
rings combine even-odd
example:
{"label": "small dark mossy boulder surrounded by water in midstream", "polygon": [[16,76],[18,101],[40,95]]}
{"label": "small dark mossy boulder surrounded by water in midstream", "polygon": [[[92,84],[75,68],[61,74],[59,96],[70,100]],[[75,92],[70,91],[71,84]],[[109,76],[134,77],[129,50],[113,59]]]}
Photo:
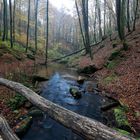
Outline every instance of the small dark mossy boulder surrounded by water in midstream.
{"label": "small dark mossy boulder surrounded by water in midstream", "polygon": [[82,97],[81,92],[77,88],[72,87],[69,91],[75,99],[80,99]]}

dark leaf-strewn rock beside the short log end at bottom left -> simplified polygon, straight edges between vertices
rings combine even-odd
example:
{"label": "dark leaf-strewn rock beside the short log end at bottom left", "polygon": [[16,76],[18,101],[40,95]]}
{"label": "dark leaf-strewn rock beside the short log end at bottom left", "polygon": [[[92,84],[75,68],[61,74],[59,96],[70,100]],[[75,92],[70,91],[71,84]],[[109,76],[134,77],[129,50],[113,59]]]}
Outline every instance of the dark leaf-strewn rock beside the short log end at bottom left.
{"label": "dark leaf-strewn rock beside the short log end at bottom left", "polygon": [[31,123],[32,123],[32,117],[31,116],[24,118],[23,120],[21,120],[16,125],[15,133],[18,136],[23,136],[28,131],[28,129],[30,128]]}

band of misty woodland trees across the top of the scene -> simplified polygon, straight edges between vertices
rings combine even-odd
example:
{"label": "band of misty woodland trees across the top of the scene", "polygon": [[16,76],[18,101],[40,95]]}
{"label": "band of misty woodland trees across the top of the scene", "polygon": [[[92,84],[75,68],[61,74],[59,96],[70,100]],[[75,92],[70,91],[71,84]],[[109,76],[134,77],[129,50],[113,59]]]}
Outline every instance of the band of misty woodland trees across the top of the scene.
{"label": "band of misty woodland trees across the top of the scene", "polygon": [[126,32],[136,30],[140,19],[139,0],[75,0],[73,11],[57,9],[51,2],[1,0],[2,41],[10,41],[11,47],[14,42],[21,43],[33,55],[42,48],[46,64],[53,49],[65,55],[84,47],[92,58],[92,44],[107,36],[111,39],[115,31],[125,48]]}

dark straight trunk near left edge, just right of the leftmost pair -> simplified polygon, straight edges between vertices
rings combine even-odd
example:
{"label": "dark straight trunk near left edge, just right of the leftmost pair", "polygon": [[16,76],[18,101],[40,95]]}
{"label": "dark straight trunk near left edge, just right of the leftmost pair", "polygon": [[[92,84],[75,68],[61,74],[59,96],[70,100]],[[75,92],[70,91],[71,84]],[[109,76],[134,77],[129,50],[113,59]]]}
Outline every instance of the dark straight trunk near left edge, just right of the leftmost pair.
{"label": "dark straight trunk near left edge, just right of the leftmost pair", "polygon": [[9,0],[9,15],[10,15],[10,45],[13,48],[13,21],[12,21],[12,3]]}

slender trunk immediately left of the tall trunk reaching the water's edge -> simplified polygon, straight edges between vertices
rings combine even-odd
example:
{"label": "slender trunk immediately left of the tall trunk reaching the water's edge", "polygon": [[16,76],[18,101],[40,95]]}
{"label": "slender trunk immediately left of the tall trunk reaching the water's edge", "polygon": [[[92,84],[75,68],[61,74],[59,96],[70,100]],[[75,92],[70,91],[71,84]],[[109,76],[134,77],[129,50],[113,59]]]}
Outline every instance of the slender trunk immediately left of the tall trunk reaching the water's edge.
{"label": "slender trunk immediately left of the tall trunk reaching the water's edge", "polygon": [[35,1],[35,54],[37,52],[38,2],[39,0]]}

